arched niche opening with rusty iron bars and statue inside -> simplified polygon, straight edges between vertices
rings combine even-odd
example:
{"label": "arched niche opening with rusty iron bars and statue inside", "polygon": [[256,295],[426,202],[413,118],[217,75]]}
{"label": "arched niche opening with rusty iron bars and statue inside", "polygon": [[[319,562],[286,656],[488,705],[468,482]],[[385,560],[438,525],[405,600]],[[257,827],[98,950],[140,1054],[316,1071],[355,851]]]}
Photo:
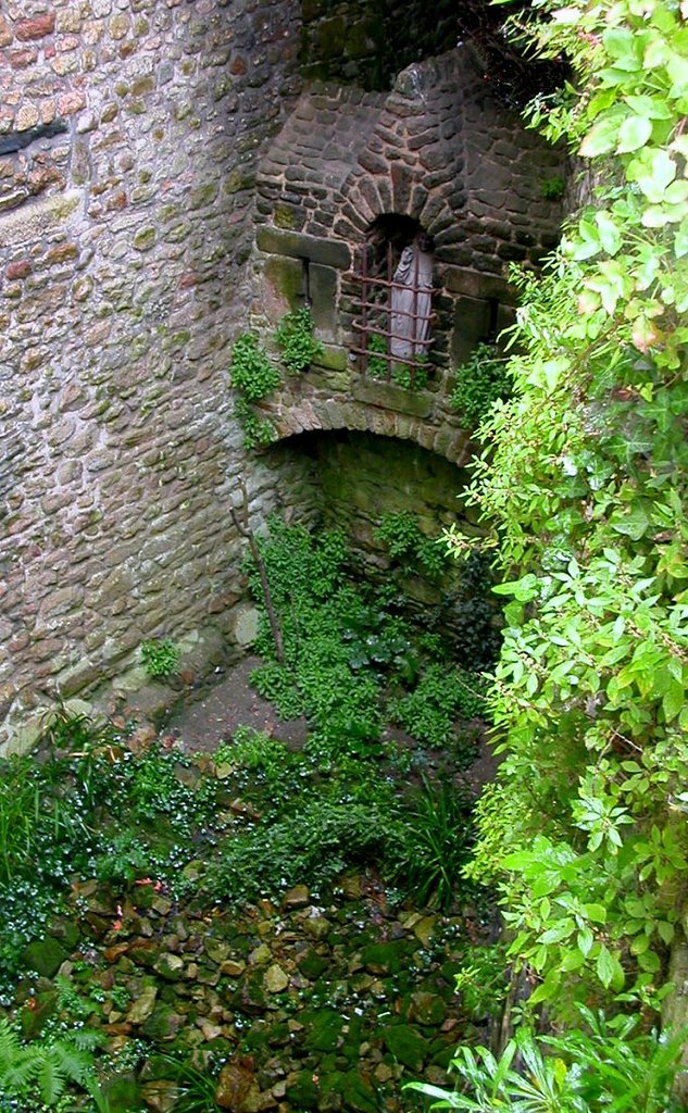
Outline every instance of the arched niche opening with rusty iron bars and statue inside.
{"label": "arched niche opening with rusty iron bars and statue inside", "polygon": [[385,237],[382,250],[366,245],[352,275],[357,316],[353,353],[364,375],[411,390],[427,382],[433,344],[432,242],[422,229],[406,240]]}

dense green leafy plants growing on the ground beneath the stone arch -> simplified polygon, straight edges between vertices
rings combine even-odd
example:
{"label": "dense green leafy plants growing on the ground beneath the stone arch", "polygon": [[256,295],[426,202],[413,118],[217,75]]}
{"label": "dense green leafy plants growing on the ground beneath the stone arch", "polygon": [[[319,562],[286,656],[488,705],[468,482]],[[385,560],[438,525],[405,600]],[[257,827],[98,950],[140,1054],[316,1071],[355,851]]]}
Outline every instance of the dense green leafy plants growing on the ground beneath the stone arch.
{"label": "dense green leafy plants growing on the ground beneath the stone arch", "polygon": [[[423,570],[441,565],[436,545],[410,515],[390,515],[381,536],[391,534],[394,542],[395,525],[396,556],[417,561]],[[417,740],[442,748],[456,740],[458,720],[484,713],[480,676],[452,667],[450,646],[413,626],[396,590],[355,583],[341,533],[312,536],[274,518],[259,546],[285,660],[271,660],[274,643],[263,615],[256,648],[266,663],[252,682],[283,718],[307,717],[309,746],[332,754],[374,751],[391,719]],[[261,599],[253,564],[250,584]]]}

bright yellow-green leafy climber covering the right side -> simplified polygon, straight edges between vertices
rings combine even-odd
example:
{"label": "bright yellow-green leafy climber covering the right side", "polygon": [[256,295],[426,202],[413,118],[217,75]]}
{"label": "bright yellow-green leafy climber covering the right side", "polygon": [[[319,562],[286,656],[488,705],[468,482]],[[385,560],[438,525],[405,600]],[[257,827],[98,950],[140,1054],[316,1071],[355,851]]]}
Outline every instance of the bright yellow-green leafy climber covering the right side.
{"label": "bright yellow-green leafy climber covering the right side", "polygon": [[481,430],[509,602],[472,869],[529,1007],[651,1011],[688,886],[688,27],[671,0],[534,7],[573,76],[533,120],[597,186],[544,276],[515,276],[514,397]]}

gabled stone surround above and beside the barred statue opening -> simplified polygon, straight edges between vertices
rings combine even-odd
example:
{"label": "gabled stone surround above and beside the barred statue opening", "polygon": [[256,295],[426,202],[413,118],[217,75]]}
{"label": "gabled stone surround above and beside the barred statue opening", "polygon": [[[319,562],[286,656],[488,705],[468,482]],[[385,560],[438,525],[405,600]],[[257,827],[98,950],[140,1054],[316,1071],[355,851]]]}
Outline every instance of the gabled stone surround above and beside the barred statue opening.
{"label": "gabled stone surround above and beside the barred statue opening", "polygon": [[389,93],[314,86],[258,169],[255,323],[309,304],[324,364],[355,367],[363,253],[381,223],[406,221],[434,242],[432,364],[451,372],[512,321],[509,265],[556,245],[564,161],[494,96],[470,45],[409,66]]}

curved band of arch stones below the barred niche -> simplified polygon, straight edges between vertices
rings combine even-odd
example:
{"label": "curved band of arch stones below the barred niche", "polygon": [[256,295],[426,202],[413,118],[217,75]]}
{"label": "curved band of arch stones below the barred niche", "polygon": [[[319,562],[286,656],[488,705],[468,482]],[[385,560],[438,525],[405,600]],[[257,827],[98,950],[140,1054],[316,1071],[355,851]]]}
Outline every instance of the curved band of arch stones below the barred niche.
{"label": "curved band of arch stones below the barred niche", "polygon": [[444,456],[458,467],[464,467],[472,456],[472,444],[465,430],[448,422],[429,422],[413,414],[397,413],[367,402],[351,398],[302,397],[281,405],[269,413],[276,437],[273,444],[301,433],[351,430],[373,433],[399,441],[412,441],[421,449]]}

